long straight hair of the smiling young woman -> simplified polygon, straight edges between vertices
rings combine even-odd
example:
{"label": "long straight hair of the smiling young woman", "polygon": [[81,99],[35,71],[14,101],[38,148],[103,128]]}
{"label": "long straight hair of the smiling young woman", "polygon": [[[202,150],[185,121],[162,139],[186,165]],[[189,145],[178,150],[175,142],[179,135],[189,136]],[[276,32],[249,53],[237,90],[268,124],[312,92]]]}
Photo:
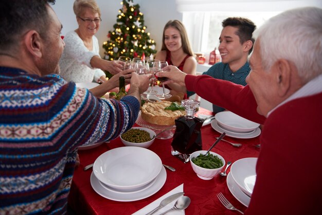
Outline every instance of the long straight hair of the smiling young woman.
{"label": "long straight hair of the smiling young woman", "polygon": [[188,35],[185,26],[182,24],[182,22],[178,20],[170,20],[166,26],[163,29],[163,35],[162,35],[162,48],[161,50],[168,50],[167,46],[165,44],[165,31],[169,27],[173,27],[177,29],[180,32],[181,42],[182,42],[182,49],[185,53],[187,53],[189,56],[193,56],[193,51],[191,48],[191,45],[188,40]]}

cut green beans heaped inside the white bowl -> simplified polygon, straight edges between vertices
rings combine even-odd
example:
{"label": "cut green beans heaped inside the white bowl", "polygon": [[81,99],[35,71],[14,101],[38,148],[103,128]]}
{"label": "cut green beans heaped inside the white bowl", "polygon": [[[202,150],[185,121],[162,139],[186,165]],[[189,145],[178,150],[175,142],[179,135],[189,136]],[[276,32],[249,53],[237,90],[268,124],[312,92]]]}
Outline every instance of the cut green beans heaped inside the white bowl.
{"label": "cut green beans heaped inside the white bowl", "polygon": [[223,166],[222,160],[217,155],[210,154],[210,152],[207,155],[200,154],[193,157],[191,161],[193,164],[206,169],[217,169]]}

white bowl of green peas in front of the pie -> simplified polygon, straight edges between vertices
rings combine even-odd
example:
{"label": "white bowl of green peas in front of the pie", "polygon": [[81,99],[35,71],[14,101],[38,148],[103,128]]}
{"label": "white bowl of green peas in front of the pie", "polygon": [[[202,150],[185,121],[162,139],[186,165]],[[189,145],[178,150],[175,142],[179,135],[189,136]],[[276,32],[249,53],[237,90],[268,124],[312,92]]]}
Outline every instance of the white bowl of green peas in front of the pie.
{"label": "white bowl of green peas in front of the pie", "polygon": [[133,127],[120,135],[124,146],[149,148],[155,140],[155,132],[144,127]]}

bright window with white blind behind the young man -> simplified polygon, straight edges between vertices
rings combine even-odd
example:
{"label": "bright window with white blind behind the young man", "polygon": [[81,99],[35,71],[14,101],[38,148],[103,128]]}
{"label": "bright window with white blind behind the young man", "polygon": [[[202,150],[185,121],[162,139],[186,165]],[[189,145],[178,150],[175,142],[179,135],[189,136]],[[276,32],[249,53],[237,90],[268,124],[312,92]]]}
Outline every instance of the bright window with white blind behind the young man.
{"label": "bright window with white blind behind the young man", "polygon": [[252,20],[257,27],[265,20],[297,7],[322,8],[321,0],[176,0],[177,10],[183,13],[193,51],[209,53],[219,45],[221,23],[231,16]]}

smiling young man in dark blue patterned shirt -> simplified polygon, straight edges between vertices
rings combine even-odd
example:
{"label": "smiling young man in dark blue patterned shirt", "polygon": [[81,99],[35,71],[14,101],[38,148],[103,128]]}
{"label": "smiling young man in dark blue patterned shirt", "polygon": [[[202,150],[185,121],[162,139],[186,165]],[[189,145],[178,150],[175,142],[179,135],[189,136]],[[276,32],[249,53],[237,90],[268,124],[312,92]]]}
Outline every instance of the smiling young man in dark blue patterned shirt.
{"label": "smiling young man in dark blue patterned shirt", "polygon": [[[218,47],[222,62],[211,66],[203,75],[245,86],[245,79],[251,71],[247,60],[255,42],[252,37],[256,25],[242,17],[229,17],[222,22],[222,26]],[[193,94],[194,92],[188,92],[188,96]],[[220,106],[212,105],[214,113],[224,110]]]}

